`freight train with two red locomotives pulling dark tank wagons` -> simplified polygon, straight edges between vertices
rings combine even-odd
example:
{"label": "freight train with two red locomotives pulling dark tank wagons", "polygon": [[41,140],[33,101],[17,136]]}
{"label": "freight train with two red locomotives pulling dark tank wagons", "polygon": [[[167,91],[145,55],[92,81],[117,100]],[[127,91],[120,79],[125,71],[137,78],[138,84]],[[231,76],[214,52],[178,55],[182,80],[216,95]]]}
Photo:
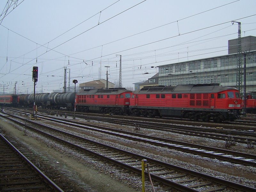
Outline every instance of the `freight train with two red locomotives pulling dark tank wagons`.
{"label": "freight train with two red locomotives pulling dark tank wagons", "polygon": [[[34,94],[16,98],[20,106],[33,106]],[[125,88],[91,89],[75,93],[39,93],[35,102],[42,108],[67,108],[81,112],[136,116],[167,116],[215,122],[234,121],[241,114],[242,100],[235,88],[219,84],[189,84]],[[1,102],[0,102],[1,104]]]}

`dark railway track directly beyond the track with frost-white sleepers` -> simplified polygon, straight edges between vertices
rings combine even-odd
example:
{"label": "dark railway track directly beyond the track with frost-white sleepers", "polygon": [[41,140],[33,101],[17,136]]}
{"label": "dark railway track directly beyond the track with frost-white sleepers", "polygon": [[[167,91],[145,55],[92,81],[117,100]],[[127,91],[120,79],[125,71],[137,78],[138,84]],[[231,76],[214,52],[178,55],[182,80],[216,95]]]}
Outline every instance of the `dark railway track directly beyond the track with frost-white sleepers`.
{"label": "dark railway track directly beyond the track with frost-white sleepers", "polygon": [[[8,109],[8,108],[6,108]],[[12,109],[8,109],[12,110]],[[15,110],[13,110],[15,111]],[[43,110],[44,112],[49,112],[47,110]],[[17,112],[17,111],[16,111]],[[58,112],[58,115],[61,116],[73,116],[74,114],[69,112],[69,113],[62,113]],[[174,122],[175,124],[170,124],[170,123],[165,123],[163,122],[158,123],[157,121],[154,121],[155,119],[147,119],[149,122],[143,122],[138,120],[137,118],[132,118],[129,117],[128,119],[120,118],[120,116],[87,116],[87,115],[76,115],[78,118],[82,119],[90,119],[90,120],[96,120],[96,121],[103,121],[103,122],[108,122],[108,123],[113,123],[113,124],[124,124],[124,125],[129,125],[129,126],[140,126],[140,128],[145,128],[145,129],[153,129],[153,130],[159,130],[159,131],[166,131],[166,132],[173,132],[173,133],[178,133],[178,134],[184,134],[184,135],[190,135],[190,136],[195,136],[195,137],[204,137],[204,138],[209,138],[209,139],[214,139],[214,140],[224,140],[224,141],[232,141],[232,142],[237,142],[237,143],[243,143],[243,144],[253,144],[256,142],[256,132],[252,132],[251,127],[247,127],[247,129],[250,129],[249,131],[237,131],[234,129],[224,129],[222,127],[203,127],[201,126],[191,126],[191,125],[184,125],[183,124],[178,124],[178,122]],[[143,119],[145,120],[145,119]],[[196,130],[196,131],[195,131]]]}

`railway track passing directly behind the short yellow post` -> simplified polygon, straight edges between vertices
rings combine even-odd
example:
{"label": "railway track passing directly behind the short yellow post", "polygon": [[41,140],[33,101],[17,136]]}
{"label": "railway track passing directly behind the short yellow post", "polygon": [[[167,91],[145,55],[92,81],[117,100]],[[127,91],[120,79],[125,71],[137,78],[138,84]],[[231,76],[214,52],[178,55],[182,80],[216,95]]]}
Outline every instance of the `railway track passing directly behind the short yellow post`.
{"label": "railway track passing directly behind the short yellow post", "polygon": [[[7,116],[4,116],[7,118]],[[20,118],[12,121],[26,126],[29,130],[38,132],[44,137],[60,142],[64,146],[72,146],[72,149],[91,154],[117,167],[122,167],[132,172],[141,174],[141,160],[147,160],[149,172],[152,180],[160,182],[181,191],[255,191],[256,188],[234,183],[218,177],[213,177],[204,173],[196,172],[173,164],[158,161],[153,158],[141,156],[119,148],[111,147],[93,140],[76,136],[60,131],[45,125],[37,124],[33,121],[21,123]],[[147,172],[146,172],[147,173]]]}

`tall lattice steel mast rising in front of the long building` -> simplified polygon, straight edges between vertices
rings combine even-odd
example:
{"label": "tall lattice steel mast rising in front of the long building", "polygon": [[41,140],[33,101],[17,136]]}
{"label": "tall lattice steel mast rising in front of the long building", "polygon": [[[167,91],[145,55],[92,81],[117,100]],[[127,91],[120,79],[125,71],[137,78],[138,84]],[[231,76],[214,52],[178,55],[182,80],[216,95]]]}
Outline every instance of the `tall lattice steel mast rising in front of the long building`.
{"label": "tall lattice steel mast rising in front of the long building", "polygon": [[241,60],[241,54],[242,54],[241,22],[231,21],[231,23],[232,25],[234,23],[238,24],[237,58],[236,58],[236,89],[238,89],[240,96],[242,96],[243,92],[242,92],[242,60]]}

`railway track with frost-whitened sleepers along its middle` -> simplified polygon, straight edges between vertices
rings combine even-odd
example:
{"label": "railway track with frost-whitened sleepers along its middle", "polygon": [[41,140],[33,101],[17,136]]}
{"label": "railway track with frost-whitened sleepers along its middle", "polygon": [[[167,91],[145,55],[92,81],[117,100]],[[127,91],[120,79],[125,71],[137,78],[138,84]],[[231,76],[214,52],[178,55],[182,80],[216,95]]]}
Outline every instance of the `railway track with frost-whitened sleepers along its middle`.
{"label": "railway track with frost-whitened sleepers along its middle", "polygon": [[[139,134],[134,132],[128,132],[123,130],[117,130],[113,128],[107,128],[102,126],[95,126],[86,123],[74,122],[73,120],[60,119],[57,117],[48,117],[45,115],[40,115],[40,118],[44,118],[49,121],[54,121],[57,123],[75,126],[87,130],[92,130],[96,132],[102,132],[105,134],[114,135],[117,137],[126,138],[129,140],[135,140],[140,142],[149,143],[156,146],[161,146],[165,148],[171,148],[185,153],[206,156],[212,159],[218,159],[225,162],[231,162],[235,164],[243,164],[249,166],[256,166],[256,155],[241,153],[226,149],[213,148],[209,146],[197,145],[177,140],[164,139],[155,136],[149,136],[145,134]],[[112,120],[113,121],[113,120]]]}

